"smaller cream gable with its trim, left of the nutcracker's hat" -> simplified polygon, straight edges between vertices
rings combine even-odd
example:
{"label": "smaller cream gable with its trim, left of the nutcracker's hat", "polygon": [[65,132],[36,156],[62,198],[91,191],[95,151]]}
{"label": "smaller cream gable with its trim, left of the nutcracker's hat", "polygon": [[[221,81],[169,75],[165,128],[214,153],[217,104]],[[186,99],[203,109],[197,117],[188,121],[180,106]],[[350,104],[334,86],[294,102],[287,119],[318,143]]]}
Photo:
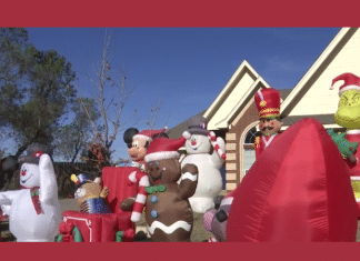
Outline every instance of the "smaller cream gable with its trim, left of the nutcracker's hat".
{"label": "smaller cream gable with its trim, left of the nutcracker's hat", "polygon": [[270,86],[246,60],[230,78],[203,117],[209,130],[227,129],[260,88]]}

